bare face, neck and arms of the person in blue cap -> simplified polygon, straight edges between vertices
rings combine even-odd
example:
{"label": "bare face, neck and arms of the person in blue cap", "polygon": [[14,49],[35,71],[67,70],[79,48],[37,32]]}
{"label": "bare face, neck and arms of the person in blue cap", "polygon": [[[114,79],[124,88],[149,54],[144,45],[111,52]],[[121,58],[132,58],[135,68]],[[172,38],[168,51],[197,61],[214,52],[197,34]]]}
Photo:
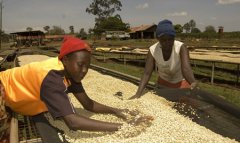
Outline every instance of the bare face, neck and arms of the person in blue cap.
{"label": "bare face, neck and arms of the person in blue cap", "polygon": [[[175,40],[175,37],[170,36],[170,35],[163,35],[158,38],[158,41],[160,42],[160,44],[162,46],[163,58],[165,61],[169,60],[171,57],[174,40]],[[193,75],[193,72],[191,69],[191,65],[189,62],[189,51],[184,44],[182,45],[181,50],[180,50],[180,60],[181,60],[181,69],[182,69],[183,77],[185,78],[185,80],[188,83],[191,84],[191,88],[195,88],[196,81],[195,81],[195,78],[194,78],[194,75]],[[147,54],[147,60],[146,60],[146,64],[145,64],[144,74],[139,83],[138,90],[134,96],[130,97],[130,99],[141,97],[143,90],[145,89],[145,87],[152,75],[152,72],[154,70],[154,65],[155,65],[155,60],[149,51]]]}

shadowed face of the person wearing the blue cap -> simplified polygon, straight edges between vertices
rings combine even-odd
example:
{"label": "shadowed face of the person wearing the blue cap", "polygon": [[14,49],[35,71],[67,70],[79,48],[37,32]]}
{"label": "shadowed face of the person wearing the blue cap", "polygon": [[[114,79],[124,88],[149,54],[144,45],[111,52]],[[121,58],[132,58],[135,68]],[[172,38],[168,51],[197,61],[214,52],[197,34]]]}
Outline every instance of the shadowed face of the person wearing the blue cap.
{"label": "shadowed face of the person wearing the blue cap", "polygon": [[158,41],[160,42],[161,46],[163,48],[171,48],[174,44],[174,36],[171,35],[162,35],[158,38]]}

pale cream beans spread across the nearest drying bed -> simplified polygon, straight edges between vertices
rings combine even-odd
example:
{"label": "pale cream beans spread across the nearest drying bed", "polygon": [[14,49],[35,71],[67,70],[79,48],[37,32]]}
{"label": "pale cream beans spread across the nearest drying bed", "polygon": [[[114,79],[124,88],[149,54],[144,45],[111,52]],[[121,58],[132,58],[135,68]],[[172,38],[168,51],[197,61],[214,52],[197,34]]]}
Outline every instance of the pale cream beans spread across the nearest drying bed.
{"label": "pale cream beans spread across the nearest drying bed", "polygon": [[[34,55],[37,57],[37,55]],[[39,56],[38,60],[41,60]],[[28,59],[28,58],[27,58]],[[45,57],[44,57],[45,59]],[[123,123],[123,127],[117,132],[88,132],[70,131],[62,121],[50,120],[51,124],[64,130],[69,142],[81,143],[160,143],[160,142],[236,142],[225,138],[211,130],[198,125],[191,119],[179,114],[173,109],[173,103],[168,102],[154,93],[147,92],[142,98],[127,100],[134,95],[137,86],[112,76],[103,75],[94,70],[89,70],[83,79],[86,93],[95,101],[102,104],[117,107],[137,109],[141,114],[154,117],[151,124],[132,126],[110,114],[95,114],[83,110],[80,103],[73,95],[71,101],[78,114],[92,119],[108,122]],[[122,93],[123,100],[115,94]],[[192,114],[195,111],[191,109]],[[196,115],[197,116],[197,115]]]}

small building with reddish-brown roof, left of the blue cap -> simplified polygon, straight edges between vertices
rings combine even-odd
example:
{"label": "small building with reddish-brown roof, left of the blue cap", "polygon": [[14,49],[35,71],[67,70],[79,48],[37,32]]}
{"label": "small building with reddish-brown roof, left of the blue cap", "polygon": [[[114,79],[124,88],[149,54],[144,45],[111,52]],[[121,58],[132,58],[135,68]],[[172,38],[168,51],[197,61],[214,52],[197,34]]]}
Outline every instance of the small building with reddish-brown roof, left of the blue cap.
{"label": "small building with reddish-brown roof, left of the blue cap", "polygon": [[130,28],[131,39],[154,39],[156,38],[157,25],[141,25]]}

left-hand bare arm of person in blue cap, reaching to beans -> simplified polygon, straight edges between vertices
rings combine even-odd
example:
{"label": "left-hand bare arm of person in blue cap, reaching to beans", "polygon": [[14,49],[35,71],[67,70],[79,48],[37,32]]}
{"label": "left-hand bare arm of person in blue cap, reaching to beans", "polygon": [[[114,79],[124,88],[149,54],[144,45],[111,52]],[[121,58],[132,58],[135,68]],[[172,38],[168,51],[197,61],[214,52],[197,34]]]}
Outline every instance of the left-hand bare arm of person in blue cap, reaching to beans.
{"label": "left-hand bare arm of person in blue cap, reaching to beans", "polygon": [[153,69],[154,69],[154,64],[155,64],[155,60],[152,56],[152,54],[150,53],[150,51],[148,51],[148,55],[147,55],[147,61],[146,61],[146,64],[145,64],[145,69],[144,69],[144,74],[142,75],[142,78],[141,78],[141,81],[139,83],[139,86],[138,86],[138,90],[136,92],[136,94],[131,97],[130,99],[134,99],[134,98],[139,98],[142,93],[143,93],[143,90],[145,89],[151,75],[152,75],[152,72],[153,72]]}

